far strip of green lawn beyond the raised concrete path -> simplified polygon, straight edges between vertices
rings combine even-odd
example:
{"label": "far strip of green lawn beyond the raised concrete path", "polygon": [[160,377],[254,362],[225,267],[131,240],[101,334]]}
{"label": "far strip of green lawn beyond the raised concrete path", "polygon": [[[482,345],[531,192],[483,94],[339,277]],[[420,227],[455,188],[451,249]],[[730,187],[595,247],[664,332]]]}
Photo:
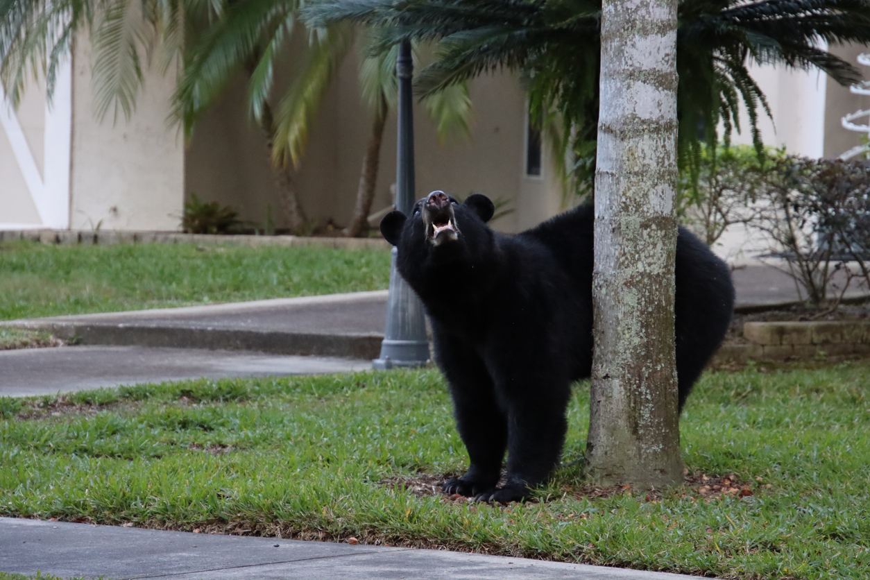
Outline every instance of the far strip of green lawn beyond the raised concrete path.
{"label": "far strip of green lawn beyond the raised concrete path", "polygon": [[390,252],[0,243],[0,320],[387,287]]}

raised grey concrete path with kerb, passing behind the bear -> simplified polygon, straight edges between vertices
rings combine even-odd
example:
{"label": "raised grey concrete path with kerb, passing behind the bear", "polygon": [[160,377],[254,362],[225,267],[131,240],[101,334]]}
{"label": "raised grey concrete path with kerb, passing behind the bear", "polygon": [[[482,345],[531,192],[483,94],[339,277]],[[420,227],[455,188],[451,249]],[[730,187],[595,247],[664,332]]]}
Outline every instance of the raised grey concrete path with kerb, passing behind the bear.
{"label": "raised grey concrete path with kerb, passing behind the bear", "polygon": [[[735,270],[733,280],[738,308],[798,299],[793,280],[771,267]],[[861,294],[853,290],[847,296]],[[371,360],[378,357],[384,337],[386,301],[386,290],[375,290],[2,324],[50,330],[57,337],[75,337],[82,344],[256,350]]]}

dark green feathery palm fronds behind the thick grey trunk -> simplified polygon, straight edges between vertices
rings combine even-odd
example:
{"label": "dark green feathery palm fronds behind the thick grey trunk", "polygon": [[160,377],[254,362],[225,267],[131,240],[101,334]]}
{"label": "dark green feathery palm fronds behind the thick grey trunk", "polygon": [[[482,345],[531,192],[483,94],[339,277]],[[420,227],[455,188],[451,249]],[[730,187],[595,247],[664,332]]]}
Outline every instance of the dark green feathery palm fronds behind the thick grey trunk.
{"label": "dark green feathery palm fronds behind the thick grey trunk", "polygon": [[[518,71],[532,114],[559,117],[557,161],[581,189],[591,186],[599,110],[600,18],[597,0],[324,0],[303,10],[311,25],[351,21],[377,27],[378,47],[404,39],[437,43],[437,61],[416,79],[429,95],[494,70]],[[680,163],[697,167],[702,143],[740,130],[740,103],[759,155],[759,110],[766,99],[748,63],[816,67],[843,85],[860,73],[820,48],[870,43],[867,0],[682,0],[677,68]]]}

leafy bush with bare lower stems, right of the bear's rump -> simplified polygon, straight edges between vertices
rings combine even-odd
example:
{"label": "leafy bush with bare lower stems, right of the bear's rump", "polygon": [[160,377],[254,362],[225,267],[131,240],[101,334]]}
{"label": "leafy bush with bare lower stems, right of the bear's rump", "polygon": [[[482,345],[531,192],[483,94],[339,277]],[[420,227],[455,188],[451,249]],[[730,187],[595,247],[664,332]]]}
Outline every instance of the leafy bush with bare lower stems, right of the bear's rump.
{"label": "leafy bush with bare lower stems, right of the bear's rump", "polygon": [[[870,162],[781,149],[759,157],[745,145],[706,149],[699,161],[698,173],[680,174],[678,211],[707,245],[735,224],[763,233],[768,256],[785,260],[784,271],[816,306],[839,303],[855,279],[870,288]],[[844,277],[834,283],[838,272]]]}

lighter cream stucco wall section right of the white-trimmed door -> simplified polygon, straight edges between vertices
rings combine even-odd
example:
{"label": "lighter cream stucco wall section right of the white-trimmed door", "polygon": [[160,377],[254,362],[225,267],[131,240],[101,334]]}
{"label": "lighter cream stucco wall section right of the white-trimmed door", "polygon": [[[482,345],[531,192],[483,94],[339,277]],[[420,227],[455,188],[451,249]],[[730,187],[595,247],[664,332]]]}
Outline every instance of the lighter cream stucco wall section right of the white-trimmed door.
{"label": "lighter cream stucco wall section right of the white-trimmed door", "polygon": [[178,230],[184,202],[184,143],[167,124],[175,72],[144,70],[130,121],[95,118],[90,44],[73,49],[70,227]]}

